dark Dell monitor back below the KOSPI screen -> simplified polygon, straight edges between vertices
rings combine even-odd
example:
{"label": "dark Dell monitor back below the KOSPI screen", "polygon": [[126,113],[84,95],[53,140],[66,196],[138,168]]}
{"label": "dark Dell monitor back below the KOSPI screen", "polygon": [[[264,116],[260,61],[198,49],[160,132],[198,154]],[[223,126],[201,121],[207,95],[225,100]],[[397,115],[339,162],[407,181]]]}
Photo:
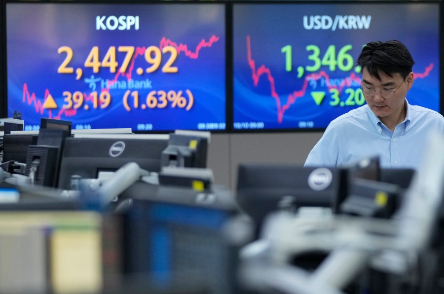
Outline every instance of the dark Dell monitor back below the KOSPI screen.
{"label": "dark Dell monitor back below the KOSPI screen", "polygon": [[138,163],[150,172],[161,170],[167,134],[76,134],[65,139],[58,187],[71,189],[71,176],[95,179],[101,171],[116,171]]}

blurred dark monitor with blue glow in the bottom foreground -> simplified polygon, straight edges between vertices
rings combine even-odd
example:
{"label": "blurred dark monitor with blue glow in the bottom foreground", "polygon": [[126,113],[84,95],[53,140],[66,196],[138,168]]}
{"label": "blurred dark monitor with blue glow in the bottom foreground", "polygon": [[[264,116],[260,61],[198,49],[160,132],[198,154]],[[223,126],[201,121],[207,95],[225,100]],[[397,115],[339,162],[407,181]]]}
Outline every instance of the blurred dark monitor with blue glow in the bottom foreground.
{"label": "blurred dark monitor with blue glow in the bottom foreground", "polygon": [[138,185],[125,215],[125,273],[146,274],[152,290],[185,279],[205,293],[239,293],[238,254],[246,238],[232,237],[248,231],[231,194],[213,192],[211,201],[189,188]]}

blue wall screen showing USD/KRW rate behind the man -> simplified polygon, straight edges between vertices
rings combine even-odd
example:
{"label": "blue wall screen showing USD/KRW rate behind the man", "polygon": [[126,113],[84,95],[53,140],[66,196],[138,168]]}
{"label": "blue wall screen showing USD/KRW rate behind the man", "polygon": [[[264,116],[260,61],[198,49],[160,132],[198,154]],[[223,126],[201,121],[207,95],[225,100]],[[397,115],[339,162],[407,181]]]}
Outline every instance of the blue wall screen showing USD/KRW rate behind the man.
{"label": "blue wall screen showing USD/KRW rate behind the man", "polygon": [[439,26],[437,2],[234,4],[234,130],[322,130],[364,105],[355,65],[376,40],[407,46],[408,102],[440,111]]}

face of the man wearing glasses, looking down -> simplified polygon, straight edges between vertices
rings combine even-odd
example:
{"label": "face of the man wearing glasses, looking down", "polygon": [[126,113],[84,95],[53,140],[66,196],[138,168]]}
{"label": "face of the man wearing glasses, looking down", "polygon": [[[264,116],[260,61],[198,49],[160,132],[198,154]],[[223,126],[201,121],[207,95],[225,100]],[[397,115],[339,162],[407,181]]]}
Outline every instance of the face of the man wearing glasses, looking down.
{"label": "face of the man wearing glasses, looking down", "polygon": [[[401,74],[393,77],[378,72],[381,80],[370,76],[367,68],[362,71],[362,87],[367,88],[373,97],[364,95],[371,111],[379,118],[397,117],[404,111],[404,98],[413,84],[413,73],[410,72],[404,80]],[[369,90],[374,89],[376,92]],[[393,91],[396,91],[393,93]],[[365,91],[364,91],[365,92]]]}

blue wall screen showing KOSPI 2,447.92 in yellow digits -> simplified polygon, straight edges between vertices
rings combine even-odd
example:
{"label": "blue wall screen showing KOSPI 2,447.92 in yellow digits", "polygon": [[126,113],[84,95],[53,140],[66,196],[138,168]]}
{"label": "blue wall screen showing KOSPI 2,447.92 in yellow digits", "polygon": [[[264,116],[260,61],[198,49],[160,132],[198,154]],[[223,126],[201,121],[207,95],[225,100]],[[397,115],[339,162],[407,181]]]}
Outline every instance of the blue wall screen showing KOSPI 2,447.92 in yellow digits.
{"label": "blue wall screen showing KOSPI 2,447.92 in yellow digits", "polygon": [[8,116],[73,129],[225,129],[225,5],[6,3]]}

